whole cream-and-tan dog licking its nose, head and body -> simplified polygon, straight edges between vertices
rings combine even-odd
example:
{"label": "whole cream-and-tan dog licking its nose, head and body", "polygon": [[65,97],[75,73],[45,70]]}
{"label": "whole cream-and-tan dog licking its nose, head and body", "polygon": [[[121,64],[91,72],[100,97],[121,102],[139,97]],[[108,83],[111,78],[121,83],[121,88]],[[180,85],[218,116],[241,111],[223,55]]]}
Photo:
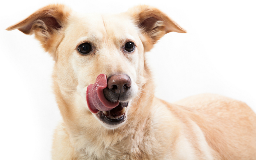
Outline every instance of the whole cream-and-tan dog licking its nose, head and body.
{"label": "whole cream-and-tan dog licking its nose, head and body", "polygon": [[53,160],[256,160],[256,114],[244,102],[154,96],[146,52],[166,33],[186,33],[159,9],[79,14],[53,4],[14,29],[35,34],[55,60],[63,122]]}

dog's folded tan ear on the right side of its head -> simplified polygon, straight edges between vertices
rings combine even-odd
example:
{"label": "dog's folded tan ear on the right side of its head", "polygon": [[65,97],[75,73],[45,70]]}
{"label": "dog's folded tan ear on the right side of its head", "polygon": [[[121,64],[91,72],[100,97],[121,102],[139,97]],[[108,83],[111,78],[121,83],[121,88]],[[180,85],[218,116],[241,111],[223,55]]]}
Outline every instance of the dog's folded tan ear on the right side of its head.
{"label": "dog's folded tan ear on the right side of its head", "polygon": [[186,33],[186,30],[182,29],[166,14],[151,6],[135,6],[128,10],[128,14],[132,16],[143,35],[146,37],[142,40],[143,45],[147,49],[146,51],[150,50],[166,33]]}

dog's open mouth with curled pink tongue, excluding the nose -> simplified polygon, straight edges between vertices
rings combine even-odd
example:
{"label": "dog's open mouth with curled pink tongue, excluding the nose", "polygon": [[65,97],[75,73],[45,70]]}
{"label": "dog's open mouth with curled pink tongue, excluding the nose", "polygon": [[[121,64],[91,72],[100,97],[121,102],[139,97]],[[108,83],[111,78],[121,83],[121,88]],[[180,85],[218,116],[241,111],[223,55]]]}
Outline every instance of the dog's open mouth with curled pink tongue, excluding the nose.
{"label": "dog's open mouth with curled pink tongue, excluding the nose", "polygon": [[92,113],[96,113],[100,120],[108,125],[117,125],[125,121],[125,111],[128,102],[108,101],[103,93],[107,87],[107,76],[100,74],[94,84],[87,87],[87,106]]}

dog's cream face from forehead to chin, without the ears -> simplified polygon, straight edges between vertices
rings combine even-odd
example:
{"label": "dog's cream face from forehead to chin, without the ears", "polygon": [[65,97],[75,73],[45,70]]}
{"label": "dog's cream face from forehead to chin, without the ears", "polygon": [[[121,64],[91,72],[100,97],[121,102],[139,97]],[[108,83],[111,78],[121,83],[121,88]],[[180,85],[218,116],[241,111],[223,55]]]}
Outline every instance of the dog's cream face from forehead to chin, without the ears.
{"label": "dog's cream face from forehead to chin, without the ears", "polygon": [[[138,80],[143,78],[144,49],[138,29],[127,15],[121,14],[74,15],[67,30],[60,49],[69,49],[69,65],[78,82],[81,108],[95,113],[108,128],[119,126],[125,122],[126,107],[137,94]],[[65,60],[66,55],[58,57]],[[107,86],[97,92],[102,83]],[[90,88],[90,84],[94,85]],[[99,104],[104,100],[110,104]]]}

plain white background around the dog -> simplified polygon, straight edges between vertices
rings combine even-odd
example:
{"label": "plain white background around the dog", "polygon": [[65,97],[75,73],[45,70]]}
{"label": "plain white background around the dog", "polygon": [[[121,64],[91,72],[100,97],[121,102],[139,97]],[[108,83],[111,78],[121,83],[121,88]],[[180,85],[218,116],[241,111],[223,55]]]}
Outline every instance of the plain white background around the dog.
{"label": "plain white background around the dog", "polygon": [[54,61],[39,42],[6,31],[49,3],[77,12],[125,12],[155,6],[188,33],[165,35],[147,53],[168,102],[198,93],[218,93],[256,111],[256,9],[253,0],[5,0],[0,5],[0,159],[50,160],[52,135],[61,119],[52,92]]}

